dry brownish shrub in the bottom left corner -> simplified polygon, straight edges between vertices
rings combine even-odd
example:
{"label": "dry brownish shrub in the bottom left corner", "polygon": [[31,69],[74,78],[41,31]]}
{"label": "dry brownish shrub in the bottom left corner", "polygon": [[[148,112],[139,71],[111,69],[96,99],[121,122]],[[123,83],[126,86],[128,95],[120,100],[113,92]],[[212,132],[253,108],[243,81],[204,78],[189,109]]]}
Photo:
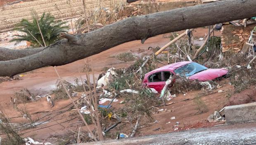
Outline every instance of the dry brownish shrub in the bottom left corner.
{"label": "dry brownish shrub in the bottom left corner", "polygon": [[0,111],[0,133],[3,133],[6,138],[2,139],[1,145],[22,145],[24,142],[16,131],[14,124],[4,113]]}

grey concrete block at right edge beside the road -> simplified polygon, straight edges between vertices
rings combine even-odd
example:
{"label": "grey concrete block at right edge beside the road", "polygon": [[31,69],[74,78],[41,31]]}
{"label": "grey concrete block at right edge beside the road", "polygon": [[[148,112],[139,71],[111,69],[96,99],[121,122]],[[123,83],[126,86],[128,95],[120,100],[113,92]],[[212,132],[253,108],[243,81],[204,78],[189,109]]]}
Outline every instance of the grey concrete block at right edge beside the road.
{"label": "grey concrete block at right edge beside the road", "polygon": [[228,124],[256,122],[256,103],[225,107],[225,118]]}

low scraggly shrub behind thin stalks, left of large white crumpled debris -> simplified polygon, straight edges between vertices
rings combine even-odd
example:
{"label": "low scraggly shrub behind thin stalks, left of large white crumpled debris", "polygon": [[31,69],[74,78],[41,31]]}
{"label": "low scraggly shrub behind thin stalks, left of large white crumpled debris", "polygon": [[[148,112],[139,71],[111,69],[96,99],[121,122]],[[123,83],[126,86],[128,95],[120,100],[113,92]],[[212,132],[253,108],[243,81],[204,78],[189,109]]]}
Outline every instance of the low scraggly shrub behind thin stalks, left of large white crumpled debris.
{"label": "low scraggly shrub behind thin stalks, left of large white crumpled debris", "polygon": [[[74,93],[75,92],[83,92],[83,85],[81,83],[79,83],[78,78],[75,78],[74,80],[74,84],[69,83],[68,81],[62,81],[66,87],[66,89],[68,90],[69,94]],[[57,88],[55,90],[52,90],[52,94],[55,94],[55,97],[53,99],[53,101],[57,101],[59,99],[67,99],[68,95],[66,94],[66,91],[64,90],[64,87],[62,86],[60,81],[57,81],[56,83]],[[85,85],[85,90],[88,91],[89,88],[87,85]]]}

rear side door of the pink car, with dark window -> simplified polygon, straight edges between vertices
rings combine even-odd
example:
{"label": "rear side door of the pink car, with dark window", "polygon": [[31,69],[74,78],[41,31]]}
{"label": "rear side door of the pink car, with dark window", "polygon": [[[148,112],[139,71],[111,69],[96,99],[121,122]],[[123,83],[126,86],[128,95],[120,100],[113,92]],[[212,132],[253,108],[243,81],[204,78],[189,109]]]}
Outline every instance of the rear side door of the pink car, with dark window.
{"label": "rear side door of the pink car, with dark window", "polygon": [[154,88],[159,93],[163,90],[165,81],[163,79],[162,71],[149,75],[148,81],[148,87]]}

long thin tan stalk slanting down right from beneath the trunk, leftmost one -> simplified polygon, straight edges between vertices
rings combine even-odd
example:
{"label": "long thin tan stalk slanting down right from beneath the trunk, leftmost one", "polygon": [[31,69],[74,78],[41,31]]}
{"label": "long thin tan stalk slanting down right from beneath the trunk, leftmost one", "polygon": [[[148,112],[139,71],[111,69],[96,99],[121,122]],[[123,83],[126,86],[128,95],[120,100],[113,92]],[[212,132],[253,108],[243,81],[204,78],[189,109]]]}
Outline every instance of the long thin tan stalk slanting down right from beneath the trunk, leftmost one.
{"label": "long thin tan stalk slanting down right from beneath the trunk, leftmost one", "polygon": [[77,105],[74,103],[73,99],[71,98],[71,96],[70,96],[68,90],[66,90],[66,87],[65,87],[64,83],[62,82],[62,79],[61,79],[61,77],[59,76],[59,73],[58,73],[56,67],[54,67],[54,69],[55,69],[55,72],[56,72],[57,76],[59,77],[59,80],[60,80],[60,82],[61,82],[61,84],[62,84],[64,90],[66,91],[66,94],[69,96],[70,101],[71,101],[72,104],[75,106],[75,108],[76,108],[78,114],[80,115],[80,117],[82,118],[83,122],[85,123],[85,126],[86,126],[87,130],[90,132],[92,138],[93,138],[95,141],[97,141],[97,138],[96,138],[95,135],[92,133],[92,131],[89,129],[87,122],[85,121],[85,119],[84,119],[83,115],[81,114],[81,112],[79,111]]}

